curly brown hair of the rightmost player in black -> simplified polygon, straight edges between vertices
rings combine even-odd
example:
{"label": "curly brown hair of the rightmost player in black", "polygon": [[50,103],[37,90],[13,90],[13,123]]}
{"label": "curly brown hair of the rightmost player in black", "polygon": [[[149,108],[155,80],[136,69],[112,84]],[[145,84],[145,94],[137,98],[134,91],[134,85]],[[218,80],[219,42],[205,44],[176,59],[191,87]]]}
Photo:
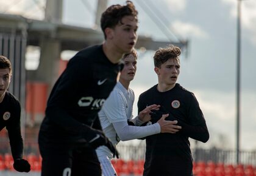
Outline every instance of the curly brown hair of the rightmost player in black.
{"label": "curly brown hair of the rightmost player in black", "polygon": [[155,67],[160,67],[163,63],[168,61],[168,59],[177,59],[180,61],[181,50],[177,46],[169,45],[168,47],[158,49],[154,55],[154,65]]}

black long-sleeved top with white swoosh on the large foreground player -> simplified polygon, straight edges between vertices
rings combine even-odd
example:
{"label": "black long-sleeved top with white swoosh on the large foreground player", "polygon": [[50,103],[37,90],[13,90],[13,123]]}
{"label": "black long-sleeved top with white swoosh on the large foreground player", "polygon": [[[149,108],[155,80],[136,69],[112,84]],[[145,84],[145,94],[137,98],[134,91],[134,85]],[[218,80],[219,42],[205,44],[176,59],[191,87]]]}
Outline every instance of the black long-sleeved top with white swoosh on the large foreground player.
{"label": "black long-sleeved top with white swoosh on the large foreground player", "polygon": [[71,58],[49,96],[39,142],[63,147],[84,144],[88,127],[101,128],[93,123],[116,84],[119,69],[120,64],[105,56],[102,45],[88,47]]}

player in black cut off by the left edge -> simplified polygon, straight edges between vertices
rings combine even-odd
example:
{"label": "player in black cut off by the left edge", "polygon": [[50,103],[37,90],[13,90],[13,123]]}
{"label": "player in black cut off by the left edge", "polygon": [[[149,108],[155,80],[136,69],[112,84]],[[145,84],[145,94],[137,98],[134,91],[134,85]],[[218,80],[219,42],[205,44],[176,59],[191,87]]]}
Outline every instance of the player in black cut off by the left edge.
{"label": "player in black cut off by the left edge", "polygon": [[12,65],[5,56],[0,56],[0,131],[8,130],[13,168],[18,172],[29,172],[30,164],[23,159],[23,138],[21,137],[20,101],[7,89],[12,77]]}

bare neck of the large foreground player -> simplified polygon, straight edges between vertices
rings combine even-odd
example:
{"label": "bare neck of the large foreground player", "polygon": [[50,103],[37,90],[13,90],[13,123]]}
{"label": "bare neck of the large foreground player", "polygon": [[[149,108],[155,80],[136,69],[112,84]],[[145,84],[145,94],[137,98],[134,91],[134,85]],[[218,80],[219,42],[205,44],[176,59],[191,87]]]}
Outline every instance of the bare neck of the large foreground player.
{"label": "bare neck of the large foreground player", "polygon": [[109,61],[113,64],[119,63],[120,59],[123,56],[123,53],[119,53],[114,47],[110,46],[107,41],[103,43],[103,52],[105,53]]}

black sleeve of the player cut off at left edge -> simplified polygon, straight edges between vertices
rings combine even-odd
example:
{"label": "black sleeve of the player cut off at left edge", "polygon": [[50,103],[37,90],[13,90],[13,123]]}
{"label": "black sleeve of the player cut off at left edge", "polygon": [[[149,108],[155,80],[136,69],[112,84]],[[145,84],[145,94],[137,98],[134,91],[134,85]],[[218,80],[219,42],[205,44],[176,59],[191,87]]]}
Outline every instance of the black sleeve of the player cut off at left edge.
{"label": "black sleeve of the player cut off at left edge", "polygon": [[21,137],[21,106],[20,103],[15,103],[13,106],[12,121],[6,126],[8,130],[10,147],[13,160],[23,158],[23,138]]}

